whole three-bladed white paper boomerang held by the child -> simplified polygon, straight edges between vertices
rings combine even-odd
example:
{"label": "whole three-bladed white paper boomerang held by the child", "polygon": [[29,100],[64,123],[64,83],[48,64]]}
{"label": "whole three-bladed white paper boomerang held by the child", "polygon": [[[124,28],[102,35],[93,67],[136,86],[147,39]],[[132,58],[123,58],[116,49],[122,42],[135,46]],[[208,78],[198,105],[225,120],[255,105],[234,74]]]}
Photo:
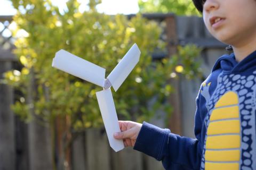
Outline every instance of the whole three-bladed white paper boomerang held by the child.
{"label": "whole three-bladed white paper boomerang held by the child", "polygon": [[134,44],[116,65],[115,69],[111,71],[107,79],[105,79],[106,69],[63,49],[55,54],[52,61],[53,67],[103,88],[102,91],[96,92],[96,96],[110,147],[116,152],[124,148],[124,143],[123,140],[117,140],[113,137],[115,132],[120,132],[120,128],[110,87],[113,86],[114,90],[117,91],[134,66],[139,62],[139,58],[140,49],[137,44]]}

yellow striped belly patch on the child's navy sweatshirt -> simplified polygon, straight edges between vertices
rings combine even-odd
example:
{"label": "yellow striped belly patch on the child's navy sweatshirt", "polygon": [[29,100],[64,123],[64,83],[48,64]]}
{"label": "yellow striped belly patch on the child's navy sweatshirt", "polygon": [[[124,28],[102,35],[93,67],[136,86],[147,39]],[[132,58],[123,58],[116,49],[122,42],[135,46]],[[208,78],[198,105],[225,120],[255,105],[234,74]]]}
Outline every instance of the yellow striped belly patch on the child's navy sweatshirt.
{"label": "yellow striped belly patch on the child's navy sweatshirt", "polygon": [[239,170],[241,123],[235,92],[223,95],[212,111],[207,128],[205,170]]}

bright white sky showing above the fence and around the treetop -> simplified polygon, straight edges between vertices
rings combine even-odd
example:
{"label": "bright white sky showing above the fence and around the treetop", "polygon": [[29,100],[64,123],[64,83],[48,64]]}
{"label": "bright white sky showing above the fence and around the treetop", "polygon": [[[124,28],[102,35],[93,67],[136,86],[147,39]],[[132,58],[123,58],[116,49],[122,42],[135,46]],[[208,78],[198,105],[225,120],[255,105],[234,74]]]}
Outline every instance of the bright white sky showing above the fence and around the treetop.
{"label": "bright white sky showing above the fence and around the treetop", "polygon": [[[65,9],[67,0],[52,0],[54,5],[59,6],[60,10]],[[81,3],[79,11],[86,10],[89,0],[78,0]],[[138,0],[102,0],[102,4],[98,5],[98,11],[106,14],[134,14],[139,11]],[[12,3],[8,0],[0,0],[0,15],[14,15],[16,10]]]}

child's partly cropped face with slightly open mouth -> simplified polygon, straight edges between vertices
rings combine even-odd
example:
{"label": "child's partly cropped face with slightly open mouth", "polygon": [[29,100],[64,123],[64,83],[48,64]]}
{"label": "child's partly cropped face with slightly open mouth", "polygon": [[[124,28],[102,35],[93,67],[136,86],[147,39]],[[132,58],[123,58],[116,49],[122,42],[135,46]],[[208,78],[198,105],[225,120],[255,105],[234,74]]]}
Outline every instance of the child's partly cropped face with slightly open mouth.
{"label": "child's partly cropped face with slightly open mouth", "polygon": [[255,0],[206,0],[203,18],[210,33],[223,43],[239,46],[256,38]]}

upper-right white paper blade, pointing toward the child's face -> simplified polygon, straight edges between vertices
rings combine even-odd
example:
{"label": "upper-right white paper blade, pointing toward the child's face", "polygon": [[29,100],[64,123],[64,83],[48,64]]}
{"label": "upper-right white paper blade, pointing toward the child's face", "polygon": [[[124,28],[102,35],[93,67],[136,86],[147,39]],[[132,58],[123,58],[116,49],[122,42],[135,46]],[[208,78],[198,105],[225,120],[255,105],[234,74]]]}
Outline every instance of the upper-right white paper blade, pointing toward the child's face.
{"label": "upper-right white paper blade, pointing toward the child's face", "polygon": [[137,44],[134,44],[107,77],[115,91],[118,90],[128,77],[135,65],[139,62],[139,59],[140,49]]}

